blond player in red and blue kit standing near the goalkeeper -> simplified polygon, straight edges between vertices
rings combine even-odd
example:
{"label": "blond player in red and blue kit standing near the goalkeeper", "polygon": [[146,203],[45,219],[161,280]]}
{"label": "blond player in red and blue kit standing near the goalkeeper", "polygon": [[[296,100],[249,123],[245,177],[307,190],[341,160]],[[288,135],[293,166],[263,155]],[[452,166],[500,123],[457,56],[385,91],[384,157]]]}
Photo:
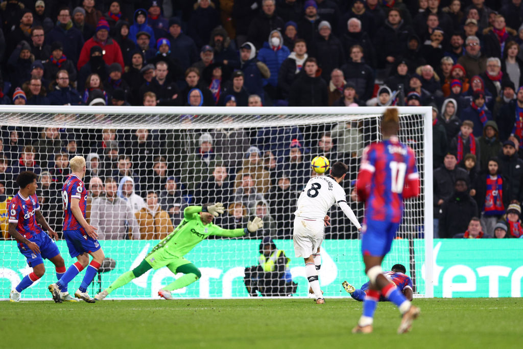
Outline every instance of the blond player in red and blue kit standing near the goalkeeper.
{"label": "blond player in red and blue kit standing near the goalkeeper", "polygon": [[[74,293],[74,296],[88,303],[95,300],[89,297],[87,287],[98,273],[98,268],[104,261],[104,251],[96,239],[97,228],[90,226],[85,220],[85,208],[87,204],[87,189],[82,178],[85,175],[85,159],[83,156],[75,156],[69,161],[71,174],[67,177],[62,187],[62,202],[64,210],[63,235],[69,248],[71,257],[76,257],[77,262],[71,265],[60,280],[49,285],[49,291],[55,302],[61,302],[61,292],[67,288],[72,279],[85,267],[82,284]],[[89,263],[90,254],[93,260]]]}

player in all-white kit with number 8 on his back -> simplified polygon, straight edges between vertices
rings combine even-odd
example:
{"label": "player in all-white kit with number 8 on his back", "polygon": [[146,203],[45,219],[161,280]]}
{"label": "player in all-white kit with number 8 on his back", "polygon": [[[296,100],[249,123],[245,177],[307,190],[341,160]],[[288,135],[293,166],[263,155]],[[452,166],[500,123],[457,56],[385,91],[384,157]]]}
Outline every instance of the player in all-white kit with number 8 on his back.
{"label": "player in all-white kit with number 8 on his back", "polygon": [[331,167],[330,176],[312,177],[298,198],[298,208],[294,212],[294,253],[305,260],[305,273],[312,288],[316,304],[325,303],[320,283],[320,246],[323,242],[324,229],[331,224],[327,211],[338,204],[351,222],[361,229],[353,210],[347,205],[345,190],[339,185],[347,174],[348,166],[336,162]]}

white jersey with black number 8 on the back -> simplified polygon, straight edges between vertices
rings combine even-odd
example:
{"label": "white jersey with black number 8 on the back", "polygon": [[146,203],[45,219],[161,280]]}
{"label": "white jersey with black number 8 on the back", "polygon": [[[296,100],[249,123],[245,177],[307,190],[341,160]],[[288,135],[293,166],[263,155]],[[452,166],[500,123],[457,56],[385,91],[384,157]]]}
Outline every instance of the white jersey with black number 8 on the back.
{"label": "white jersey with black number 8 on the back", "polygon": [[297,217],[309,219],[325,218],[334,204],[347,202],[345,190],[333,178],[327,176],[312,177],[298,198]]}

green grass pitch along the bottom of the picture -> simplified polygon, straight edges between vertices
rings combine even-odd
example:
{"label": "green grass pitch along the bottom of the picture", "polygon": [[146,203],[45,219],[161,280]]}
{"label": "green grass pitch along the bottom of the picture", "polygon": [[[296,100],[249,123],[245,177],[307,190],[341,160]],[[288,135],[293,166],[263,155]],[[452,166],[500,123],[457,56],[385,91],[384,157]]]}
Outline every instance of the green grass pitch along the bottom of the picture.
{"label": "green grass pitch along the bottom of the picture", "polygon": [[2,348],[20,347],[517,347],[522,298],[415,299],[422,315],[398,335],[397,309],[380,302],[374,333],[351,334],[352,299],[0,302]]}

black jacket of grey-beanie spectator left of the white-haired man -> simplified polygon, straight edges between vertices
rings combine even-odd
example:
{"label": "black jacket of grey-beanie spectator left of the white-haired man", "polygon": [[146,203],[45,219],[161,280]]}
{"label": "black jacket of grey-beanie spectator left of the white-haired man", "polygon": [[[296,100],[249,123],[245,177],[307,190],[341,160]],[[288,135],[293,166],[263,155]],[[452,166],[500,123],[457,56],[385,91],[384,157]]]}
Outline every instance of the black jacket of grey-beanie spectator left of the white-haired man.
{"label": "black jacket of grey-beanie spectator left of the white-haired man", "polygon": [[320,36],[313,43],[311,56],[316,58],[325,81],[329,81],[334,68],[340,67],[346,62],[343,44],[332,34],[328,36],[328,39]]}

